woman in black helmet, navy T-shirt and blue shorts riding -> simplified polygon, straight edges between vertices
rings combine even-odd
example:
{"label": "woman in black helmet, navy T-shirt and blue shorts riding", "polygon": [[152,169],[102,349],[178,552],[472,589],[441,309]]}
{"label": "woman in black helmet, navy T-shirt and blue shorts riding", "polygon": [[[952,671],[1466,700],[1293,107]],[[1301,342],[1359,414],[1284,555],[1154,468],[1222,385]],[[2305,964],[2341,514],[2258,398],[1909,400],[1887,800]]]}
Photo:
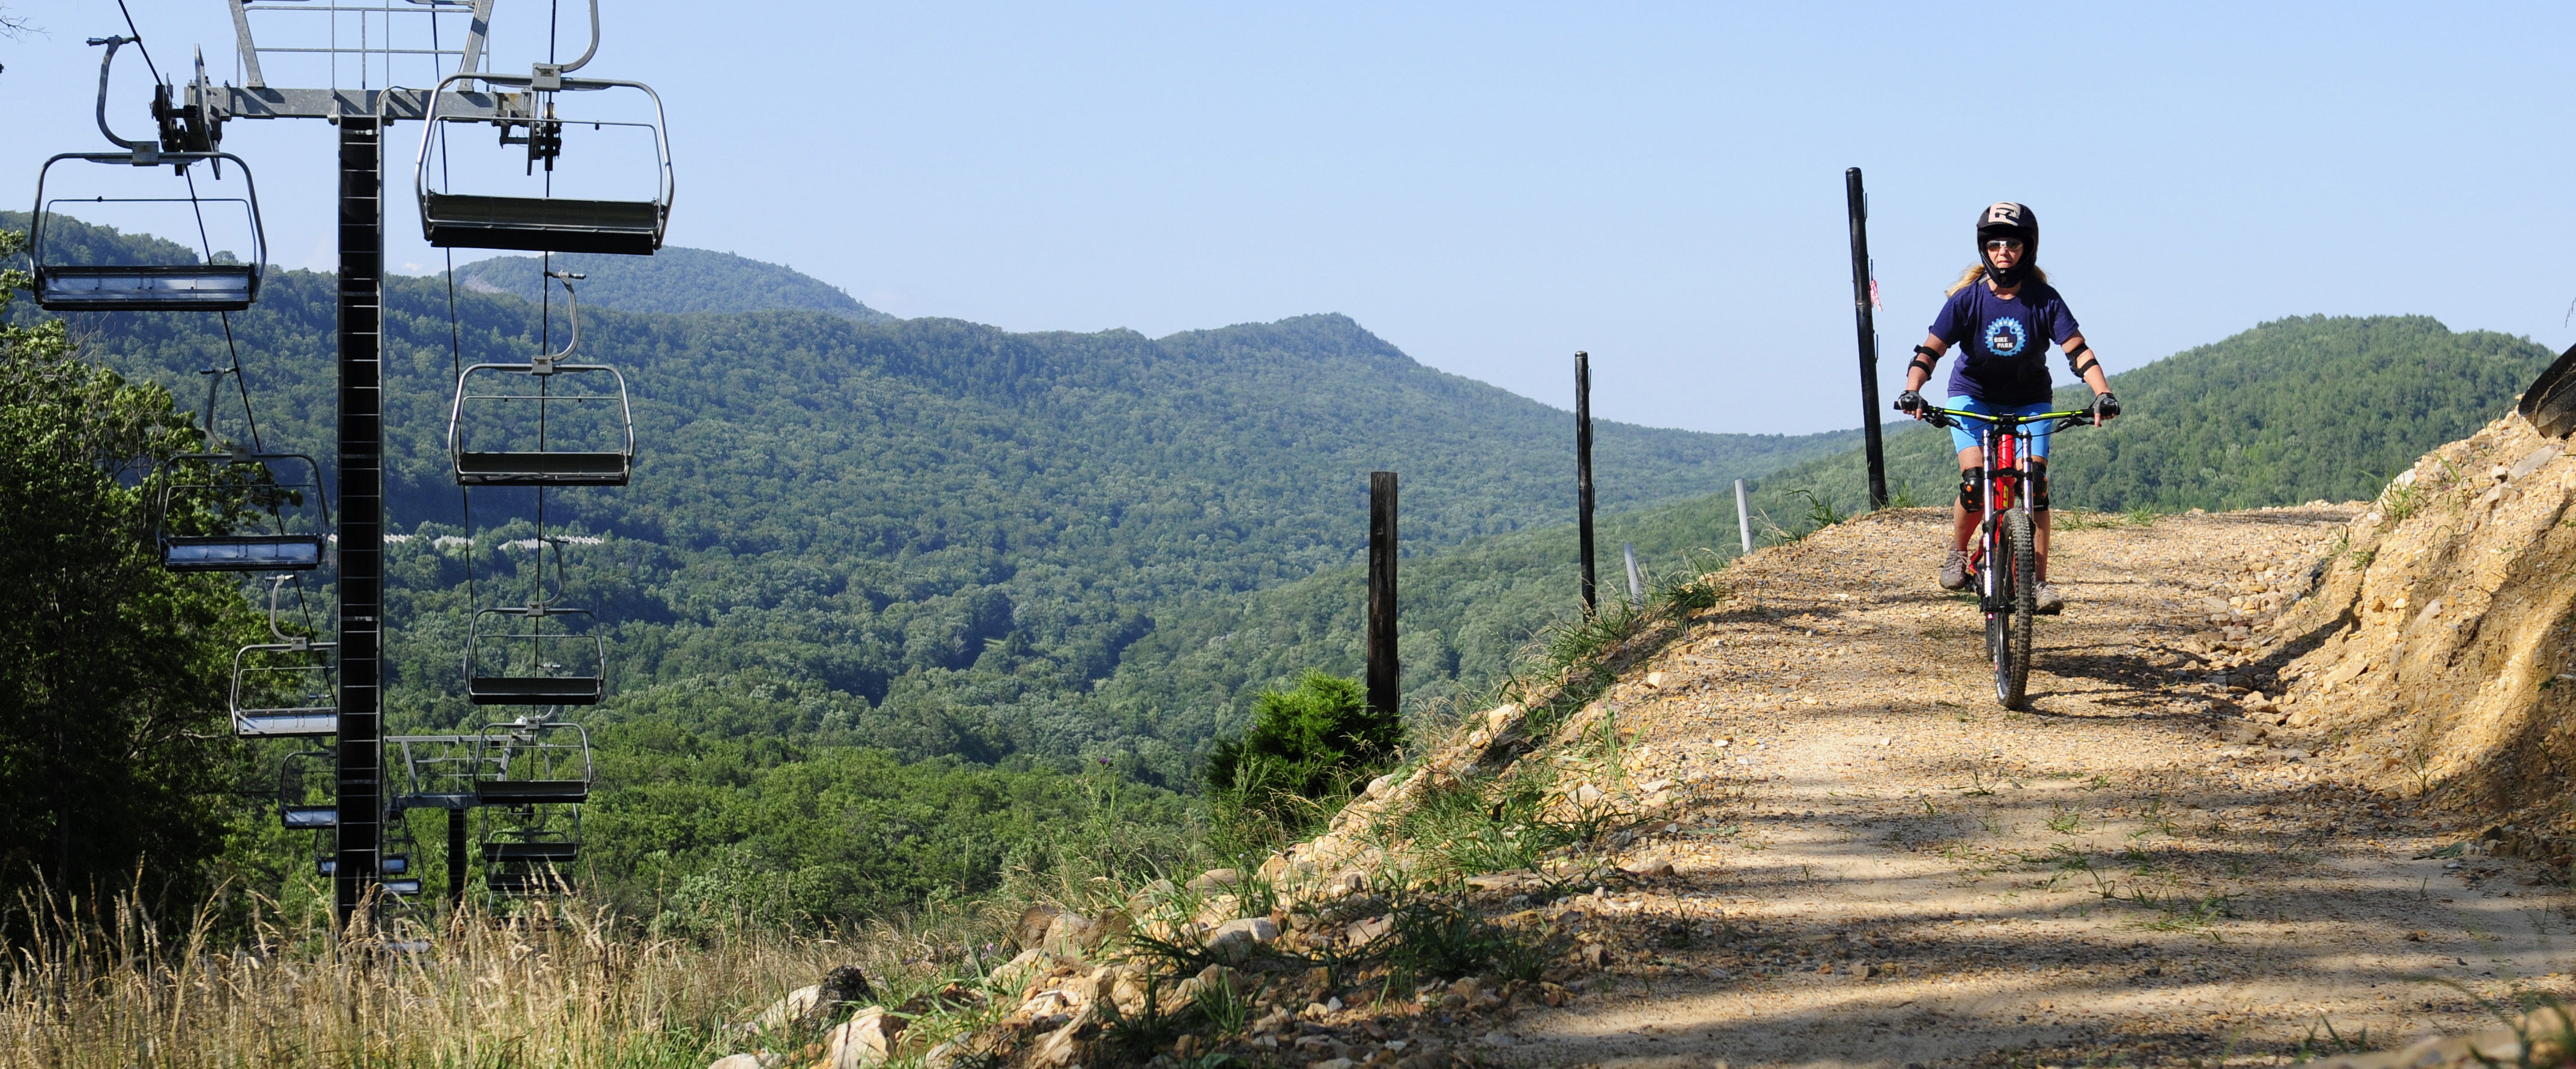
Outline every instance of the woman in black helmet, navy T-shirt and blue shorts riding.
{"label": "woman in black helmet, navy T-shirt and blue shorts riding", "polygon": [[[1965,345],[1950,371],[1953,410],[2032,415],[2050,410],[2048,343],[2066,350],[2066,366],[2094,392],[2097,420],[2120,415],[2120,402],[2110,397],[2102,361],[2084,345],[2074,312],[2048,276],[2040,270],[2040,216],[2022,203],[1994,203],[1976,216],[1978,263],[1950,286],[1950,301],[1932,317],[1932,335],[1914,345],[1914,363],[1906,366],[1906,392],[1896,394],[1896,410],[1924,417],[1922,386],[1932,381],[1932,366],[1950,345]],[[1950,510],[1950,559],[1940,569],[1942,590],[1968,587],[1968,541],[1984,518],[1978,500],[1978,469],[1986,451],[1978,446],[1978,428],[1960,420],[1950,428],[1950,446],[1958,448],[1958,505]],[[2038,518],[2038,608],[2056,613],[2066,608],[2066,595],[2048,582],[2048,430],[2040,425],[2030,435],[2032,487],[2030,513]]]}

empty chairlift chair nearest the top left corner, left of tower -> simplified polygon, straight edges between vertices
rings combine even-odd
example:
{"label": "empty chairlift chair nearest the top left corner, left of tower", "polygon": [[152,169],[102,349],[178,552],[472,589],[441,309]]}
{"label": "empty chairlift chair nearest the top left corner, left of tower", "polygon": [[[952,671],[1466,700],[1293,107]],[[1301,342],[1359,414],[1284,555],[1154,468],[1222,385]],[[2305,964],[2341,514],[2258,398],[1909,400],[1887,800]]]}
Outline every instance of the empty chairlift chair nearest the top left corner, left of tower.
{"label": "empty chairlift chair nearest the top left corner, left of tower", "polygon": [[[93,196],[46,198],[57,162],[100,162],[126,167],[170,165],[185,173],[188,165],[222,162],[242,167],[245,196],[204,198],[185,196]],[[67,240],[59,227],[46,227],[64,203],[185,203],[193,216],[204,216],[209,203],[237,203],[250,219],[250,263],[70,263]],[[160,247],[160,245],[152,245]],[[260,227],[258,183],[250,165],[232,152],[160,152],[152,144],[131,152],[64,152],[44,162],[36,173],[36,216],[28,224],[28,260],[36,273],[36,307],[46,312],[242,312],[260,299],[260,273],[268,263],[268,234]]]}

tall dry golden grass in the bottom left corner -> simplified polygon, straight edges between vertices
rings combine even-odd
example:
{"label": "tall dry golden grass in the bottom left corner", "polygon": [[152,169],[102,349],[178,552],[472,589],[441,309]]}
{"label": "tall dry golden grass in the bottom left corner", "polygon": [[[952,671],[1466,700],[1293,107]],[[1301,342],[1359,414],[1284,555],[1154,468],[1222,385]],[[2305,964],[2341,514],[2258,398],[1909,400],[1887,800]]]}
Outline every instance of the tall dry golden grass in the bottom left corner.
{"label": "tall dry golden grass in the bottom left corner", "polygon": [[[0,1066],[698,1069],[744,1046],[809,1041],[744,1043],[726,1023],[829,966],[858,963],[891,987],[961,966],[956,943],[925,930],[662,940],[585,904],[520,920],[469,912],[440,932],[350,932],[340,953],[312,914],[260,914],[255,938],[229,951],[209,945],[206,917],[165,938],[131,902],[31,914],[36,935],[0,963]],[[963,920],[948,917],[948,935],[963,935]],[[397,935],[425,951],[389,951]]]}

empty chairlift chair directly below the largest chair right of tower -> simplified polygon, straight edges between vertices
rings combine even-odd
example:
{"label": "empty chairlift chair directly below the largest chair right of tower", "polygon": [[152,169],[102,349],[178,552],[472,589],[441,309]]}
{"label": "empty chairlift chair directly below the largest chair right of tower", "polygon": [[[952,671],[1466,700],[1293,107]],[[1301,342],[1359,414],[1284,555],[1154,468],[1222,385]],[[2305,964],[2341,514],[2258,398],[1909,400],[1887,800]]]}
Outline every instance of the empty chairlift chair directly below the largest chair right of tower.
{"label": "empty chairlift chair directly below the largest chair right of tower", "polygon": [[[456,376],[448,459],[459,487],[623,487],[634,474],[636,417],[626,376],[605,363],[569,363],[582,345],[572,291],[582,276],[546,276],[564,286],[572,340],[528,363],[477,363]],[[600,386],[585,392],[572,386],[574,379]],[[567,448],[567,435],[590,448]]]}

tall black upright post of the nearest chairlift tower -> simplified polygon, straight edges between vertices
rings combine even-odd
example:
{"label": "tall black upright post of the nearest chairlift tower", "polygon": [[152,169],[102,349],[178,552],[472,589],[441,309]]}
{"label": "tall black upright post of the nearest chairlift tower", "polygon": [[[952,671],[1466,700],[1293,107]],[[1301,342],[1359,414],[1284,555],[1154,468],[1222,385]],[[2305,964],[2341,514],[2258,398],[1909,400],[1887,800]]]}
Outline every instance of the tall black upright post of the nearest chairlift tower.
{"label": "tall black upright post of the nearest chairlift tower", "polygon": [[384,814],[384,121],[340,116],[340,847],[348,932]]}

